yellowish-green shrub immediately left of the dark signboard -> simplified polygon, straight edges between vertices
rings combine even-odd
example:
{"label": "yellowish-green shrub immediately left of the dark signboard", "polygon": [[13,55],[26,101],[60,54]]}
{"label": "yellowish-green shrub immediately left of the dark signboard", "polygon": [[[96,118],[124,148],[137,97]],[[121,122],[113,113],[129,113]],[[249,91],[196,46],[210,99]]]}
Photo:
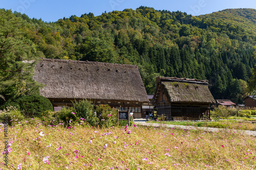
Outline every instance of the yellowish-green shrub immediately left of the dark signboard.
{"label": "yellowish-green shrub immediately left of the dark signboard", "polygon": [[96,114],[99,118],[99,126],[112,127],[117,124],[117,109],[111,108],[109,105],[98,105]]}

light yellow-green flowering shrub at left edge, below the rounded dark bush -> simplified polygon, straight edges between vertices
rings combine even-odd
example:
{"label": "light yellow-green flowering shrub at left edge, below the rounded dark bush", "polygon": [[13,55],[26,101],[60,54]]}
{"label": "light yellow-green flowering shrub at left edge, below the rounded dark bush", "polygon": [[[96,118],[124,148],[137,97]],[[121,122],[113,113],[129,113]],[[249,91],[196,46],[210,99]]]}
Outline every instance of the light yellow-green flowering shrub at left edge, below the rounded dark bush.
{"label": "light yellow-green flowering shrub at left edge, below the rounded dark bush", "polygon": [[4,110],[0,110],[0,119],[5,122],[5,117],[8,117],[8,124],[12,125],[24,120],[24,115],[15,107],[10,106]]}

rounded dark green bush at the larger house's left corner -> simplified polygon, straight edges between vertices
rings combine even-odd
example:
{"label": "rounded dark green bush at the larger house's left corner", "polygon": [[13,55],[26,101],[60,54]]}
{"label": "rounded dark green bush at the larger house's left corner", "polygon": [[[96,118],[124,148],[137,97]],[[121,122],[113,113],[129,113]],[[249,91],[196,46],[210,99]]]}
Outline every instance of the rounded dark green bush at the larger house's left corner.
{"label": "rounded dark green bush at the larger house's left corner", "polygon": [[41,113],[50,110],[53,111],[53,106],[49,99],[41,95],[22,96],[14,101],[19,106],[19,110],[26,117],[41,116]]}

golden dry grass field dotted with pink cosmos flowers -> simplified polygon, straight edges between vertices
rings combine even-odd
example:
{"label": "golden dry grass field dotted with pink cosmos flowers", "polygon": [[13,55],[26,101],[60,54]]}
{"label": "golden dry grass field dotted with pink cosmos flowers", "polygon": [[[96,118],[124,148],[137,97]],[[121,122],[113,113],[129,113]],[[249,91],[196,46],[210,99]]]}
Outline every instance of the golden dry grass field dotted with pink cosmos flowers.
{"label": "golden dry grass field dotted with pink cosmos flowers", "polygon": [[[1,129],[0,141],[3,141]],[[44,132],[44,136],[39,132]],[[134,126],[126,130],[97,129],[80,124],[68,129],[63,125],[21,123],[9,127],[8,134],[12,152],[8,155],[8,166],[1,164],[2,169],[17,169],[20,163],[22,169],[255,169],[256,166],[256,138],[228,130],[209,133]],[[4,151],[3,142],[1,150]],[[49,162],[44,163],[47,156]]]}

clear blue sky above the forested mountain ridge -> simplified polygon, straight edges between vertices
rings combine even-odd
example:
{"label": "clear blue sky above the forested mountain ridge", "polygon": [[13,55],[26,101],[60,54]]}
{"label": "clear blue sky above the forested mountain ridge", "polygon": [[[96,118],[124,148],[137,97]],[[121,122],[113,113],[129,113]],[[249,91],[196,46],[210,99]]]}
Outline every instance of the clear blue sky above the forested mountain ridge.
{"label": "clear blue sky above the forested mountain ridge", "polygon": [[57,21],[71,15],[92,12],[95,16],[102,12],[136,9],[140,6],[153,7],[156,10],[181,11],[192,15],[208,14],[228,8],[256,9],[255,0],[0,0],[0,8],[12,9],[27,14],[30,18],[44,21]]}

